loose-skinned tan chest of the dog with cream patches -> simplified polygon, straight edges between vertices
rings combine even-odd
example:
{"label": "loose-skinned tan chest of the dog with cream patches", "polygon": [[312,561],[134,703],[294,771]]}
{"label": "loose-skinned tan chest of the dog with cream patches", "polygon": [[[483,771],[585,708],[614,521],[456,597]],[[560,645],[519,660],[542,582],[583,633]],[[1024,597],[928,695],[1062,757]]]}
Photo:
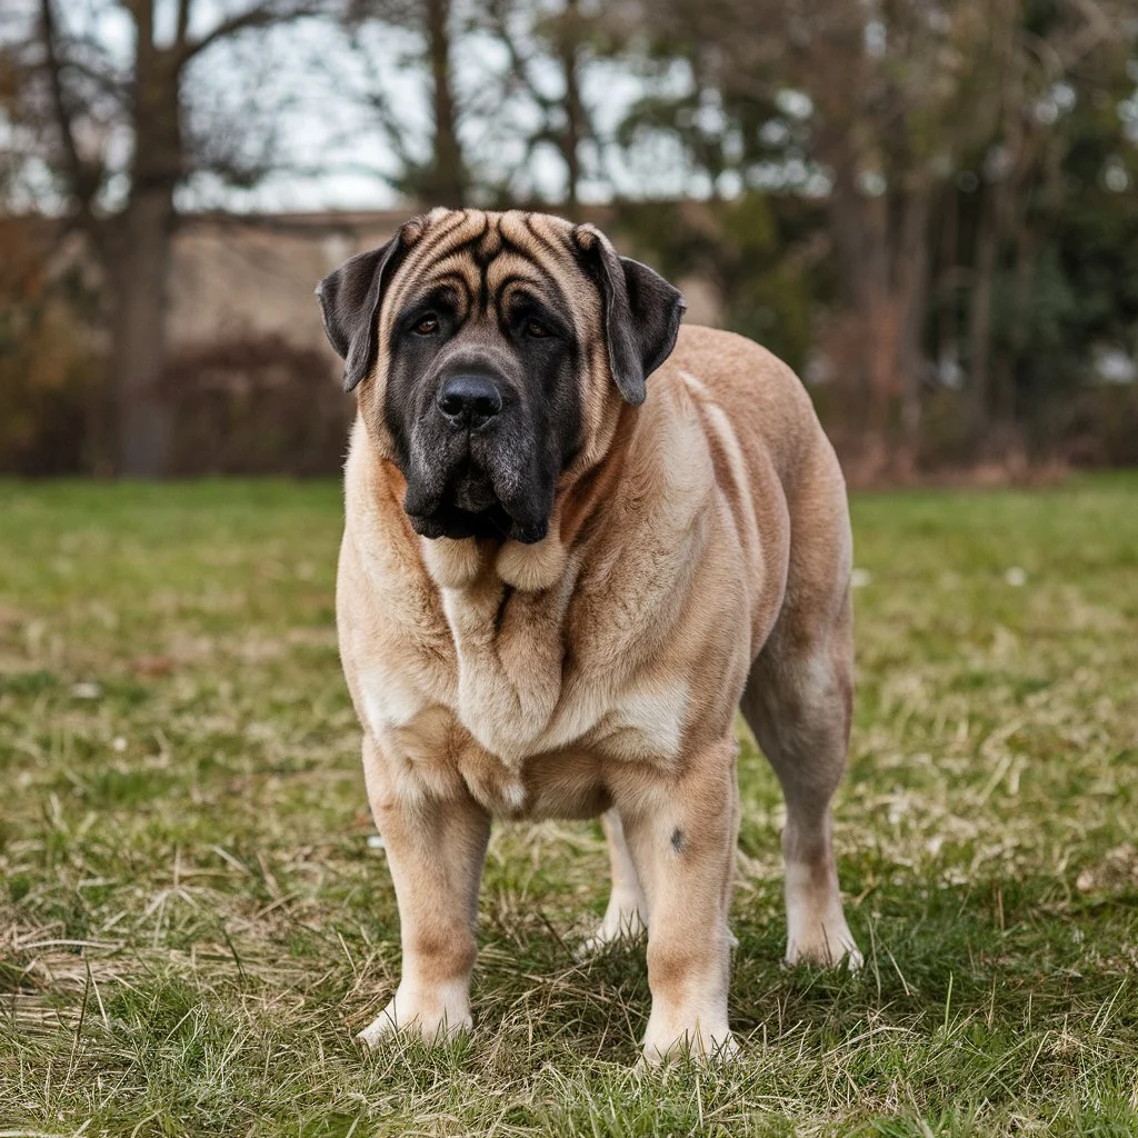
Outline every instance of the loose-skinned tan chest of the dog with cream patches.
{"label": "loose-skinned tan chest of the dog with cream patches", "polygon": [[439,603],[360,674],[361,711],[412,781],[501,816],[574,816],[604,808],[615,766],[674,765],[695,701],[675,658],[642,649],[650,591],[572,567],[525,589],[470,553],[426,546]]}

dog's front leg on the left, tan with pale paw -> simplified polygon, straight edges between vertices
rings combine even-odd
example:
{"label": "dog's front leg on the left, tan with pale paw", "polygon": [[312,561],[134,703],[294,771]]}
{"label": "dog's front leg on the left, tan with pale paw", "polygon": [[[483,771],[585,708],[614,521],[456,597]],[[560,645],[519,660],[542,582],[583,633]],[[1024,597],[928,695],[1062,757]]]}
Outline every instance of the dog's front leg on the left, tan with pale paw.
{"label": "dog's front leg on the left, tan with pale paw", "polygon": [[470,1026],[470,973],[477,945],[478,887],[489,816],[469,794],[432,797],[412,765],[395,776],[370,737],[364,774],[399,906],[403,973],[395,997],[362,1032],[376,1047],[395,1031],[442,1041]]}

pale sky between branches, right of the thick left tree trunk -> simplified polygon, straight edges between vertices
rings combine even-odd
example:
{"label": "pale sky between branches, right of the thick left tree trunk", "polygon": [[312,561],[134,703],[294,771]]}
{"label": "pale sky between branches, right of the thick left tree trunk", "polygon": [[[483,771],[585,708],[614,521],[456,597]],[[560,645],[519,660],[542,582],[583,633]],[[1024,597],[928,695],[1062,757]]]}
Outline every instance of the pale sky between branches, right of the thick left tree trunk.
{"label": "pale sky between branches, right of the thick left tree trunk", "polygon": [[[206,108],[207,115],[215,113],[218,123],[234,115],[240,121],[240,100],[249,98],[249,84],[240,79],[234,82],[233,76],[247,77],[250,68],[263,68],[251,84],[251,97],[271,112],[266,117],[278,118],[275,152],[289,170],[249,190],[223,189],[215,181],[199,179],[182,191],[180,204],[184,208],[290,212],[370,209],[397,204],[381,176],[382,171],[394,168],[394,155],[382,132],[353,98],[353,91],[381,84],[412,137],[421,135],[426,145],[429,113],[423,76],[398,66],[401,56],[413,53],[414,38],[371,28],[363,36],[366,50],[354,55],[345,50],[340,33],[333,28],[310,24],[303,34],[297,31],[284,28],[220,46],[195,65],[190,75],[192,102]],[[460,41],[454,64],[460,105],[477,104],[480,96],[485,97],[490,76],[504,69],[505,53],[488,36],[468,35]],[[547,74],[538,72],[536,80],[550,94],[559,93],[554,68]],[[684,83],[686,79],[677,75],[669,82]],[[612,133],[642,90],[642,82],[627,68],[602,64],[585,71],[583,96],[593,109],[601,137]],[[476,173],[494,175],[516,170],[522,159],[520,139],[533,127],[533,117],[527,119],[520,102],[487,109],[486,114],[471,115],[462,126],[471,160],[495,163],[488,171]],[[421,131],[415,127],[418,123],[422,124]],[[651,154],[641,154],[632,162],[612,148],[603,159],[607,176],[586,181],[582,185],[583,199],[604,200],[615,189],[628,197],[706,192],[707,187],[700,187],[698,179],[693,183],[674,141],[660,139],[651,147]],[[651,170],[648,180],[645,167]],[[561,197],[563,176],[561,159],[551,149],[538,150],[525,171],[526,182],[552,199]]]}

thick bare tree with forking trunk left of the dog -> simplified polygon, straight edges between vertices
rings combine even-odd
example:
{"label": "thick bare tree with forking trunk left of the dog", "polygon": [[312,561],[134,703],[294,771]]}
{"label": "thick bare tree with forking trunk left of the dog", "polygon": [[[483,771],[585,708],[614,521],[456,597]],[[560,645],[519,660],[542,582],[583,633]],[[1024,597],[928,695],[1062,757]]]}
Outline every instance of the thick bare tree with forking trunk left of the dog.
{"label": "thick bare tree with forking trunk left of the dog", "polygon": [[[162,475],[171,435],[160,379],[175,191],[209,164],[187,127],[188,73],[217,46],[318,16],[328,0],[35,6],[22,56],[23,114],[42,132],[67,220],[86,236],[106,278],[115,467]],[[110,34],[116,25],[130,32],[122,58]]]}

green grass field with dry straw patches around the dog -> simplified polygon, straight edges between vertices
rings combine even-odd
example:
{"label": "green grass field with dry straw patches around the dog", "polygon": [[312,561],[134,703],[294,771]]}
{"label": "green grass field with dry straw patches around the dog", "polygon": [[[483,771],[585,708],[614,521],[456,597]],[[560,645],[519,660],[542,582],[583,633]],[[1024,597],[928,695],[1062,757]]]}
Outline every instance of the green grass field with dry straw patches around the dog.
{"label": "green grass field with dry straw patches around the dog", "polygon": [[743,1057],[644,1077],[643,949],[572,957],[584,824],[496,828],[468,1040],[353,1045],[398,938],[338,487],[0,484],[0,1133],[1138,1133],[1138,477],[853,514],[866,965],[780,965],[747,741]]}

